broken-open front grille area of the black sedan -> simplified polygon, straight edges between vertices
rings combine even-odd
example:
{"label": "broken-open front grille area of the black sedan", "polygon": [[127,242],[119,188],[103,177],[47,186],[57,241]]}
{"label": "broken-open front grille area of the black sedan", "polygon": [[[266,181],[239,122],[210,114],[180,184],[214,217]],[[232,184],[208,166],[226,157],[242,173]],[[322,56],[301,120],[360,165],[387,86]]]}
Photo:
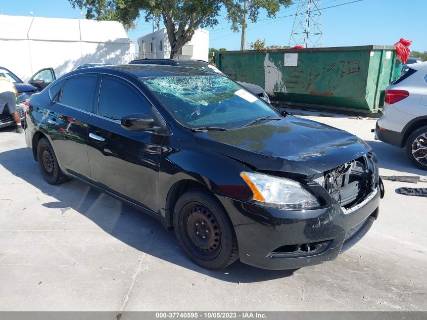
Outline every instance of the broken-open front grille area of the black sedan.
{"label": "broken-open front grille area of the black sedan", "polygon": [[320,185],[344,209],[352,208],[376,190],[377,172],[369,155],[325,171]]}

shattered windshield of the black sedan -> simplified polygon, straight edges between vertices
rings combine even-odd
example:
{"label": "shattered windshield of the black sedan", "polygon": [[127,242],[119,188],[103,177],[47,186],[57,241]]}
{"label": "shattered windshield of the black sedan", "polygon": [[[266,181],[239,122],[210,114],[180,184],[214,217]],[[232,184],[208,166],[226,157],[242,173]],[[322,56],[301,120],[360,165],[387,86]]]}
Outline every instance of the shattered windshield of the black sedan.
{"label": "shattered windshield of the black sedan", "polygon": [[140,80],[186,127],[231,129],[259,117],[277,117],[267,104],[227,77],[173,76]]}

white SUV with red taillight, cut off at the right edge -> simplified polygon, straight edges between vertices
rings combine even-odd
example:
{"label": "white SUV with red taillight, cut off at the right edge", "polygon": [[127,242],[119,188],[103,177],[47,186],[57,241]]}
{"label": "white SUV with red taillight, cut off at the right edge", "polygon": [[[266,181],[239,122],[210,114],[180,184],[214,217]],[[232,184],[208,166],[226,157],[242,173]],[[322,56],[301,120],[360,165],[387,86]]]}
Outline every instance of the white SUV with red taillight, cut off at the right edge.
{"label": "white SUV with red taillight, cut off at the right edge", "polygon": [[405,147],[409,160],[427,170],[427,62],[408,68],[387,88],[375,133],[385,143]]}

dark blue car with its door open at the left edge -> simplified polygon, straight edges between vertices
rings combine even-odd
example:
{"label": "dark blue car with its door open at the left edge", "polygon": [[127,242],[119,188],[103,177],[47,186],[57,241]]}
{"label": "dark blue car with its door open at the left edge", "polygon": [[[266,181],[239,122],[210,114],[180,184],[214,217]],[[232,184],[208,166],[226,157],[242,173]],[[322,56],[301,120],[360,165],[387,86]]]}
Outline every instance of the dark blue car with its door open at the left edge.
{"label": "dark blue car with its door open at the left edge", "polygon": [[[10,79],[18,90],[18,101],[16,110],[18,111],[21,120],[24,120],[24,103],[34,93],[42,90],[56,79],[55,71],[52,68],[44,68],[37,71],[27,82],[22,81],[17,75],[7,68],[0,67],[0,76]],[[0,128],[15,124],[12,115],[7,112],[6,108],[0,114]]]}

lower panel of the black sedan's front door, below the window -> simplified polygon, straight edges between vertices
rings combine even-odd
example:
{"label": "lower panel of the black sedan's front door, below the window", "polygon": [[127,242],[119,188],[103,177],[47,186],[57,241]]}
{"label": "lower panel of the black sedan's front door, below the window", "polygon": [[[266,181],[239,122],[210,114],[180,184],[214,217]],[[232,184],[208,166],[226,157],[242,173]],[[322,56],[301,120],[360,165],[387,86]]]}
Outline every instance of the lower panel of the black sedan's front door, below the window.
{"label": "lower panel of the black sedan's front door, below the window", "polygon": [[92,136],[87,142],[92,181],[157,212],[163,136],[128,131],[101,117],[91,119],[88,132]]}

